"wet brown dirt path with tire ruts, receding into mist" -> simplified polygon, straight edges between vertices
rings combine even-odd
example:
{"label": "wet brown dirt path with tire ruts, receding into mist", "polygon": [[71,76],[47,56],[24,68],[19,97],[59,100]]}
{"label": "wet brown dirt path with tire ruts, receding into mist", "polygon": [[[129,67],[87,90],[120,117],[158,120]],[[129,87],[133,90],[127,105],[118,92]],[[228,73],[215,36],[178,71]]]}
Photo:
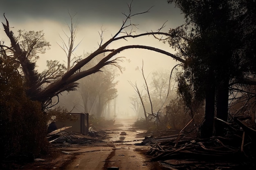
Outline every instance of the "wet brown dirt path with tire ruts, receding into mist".
{"label": "wet brown dirt path with tire ruts, receding into mist", "polygon": [[106,144],[112,143],[111,146],[83,146],[77,150],[67,151],[69,154],[75,154],[75,158],[63,167],[63,170],[154,169],[153,163],[144,155],[150,147],[134,145],[140,143],[144,137],[136,137],[141,131],[131,130],[132,120],[116,123],[124,126],[106,129],[110,138],[105,141]]}

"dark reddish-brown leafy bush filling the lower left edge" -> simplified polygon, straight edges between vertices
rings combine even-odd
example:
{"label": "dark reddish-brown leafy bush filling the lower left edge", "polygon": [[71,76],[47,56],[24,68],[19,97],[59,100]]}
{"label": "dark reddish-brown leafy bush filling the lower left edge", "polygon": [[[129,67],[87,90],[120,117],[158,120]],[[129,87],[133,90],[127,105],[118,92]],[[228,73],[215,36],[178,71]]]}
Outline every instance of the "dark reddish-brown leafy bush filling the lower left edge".
{"label": "dark reddish-brown leafy bush filling the lower left edge", "polygon": [[0,59],[0,150],[2,158],[39,155],[46,150],[47,146],[47,119],[41,110],[42,106],[39,102],[31,101],[26,97],[22,77],[17,69],[9,65],[4,56]]}

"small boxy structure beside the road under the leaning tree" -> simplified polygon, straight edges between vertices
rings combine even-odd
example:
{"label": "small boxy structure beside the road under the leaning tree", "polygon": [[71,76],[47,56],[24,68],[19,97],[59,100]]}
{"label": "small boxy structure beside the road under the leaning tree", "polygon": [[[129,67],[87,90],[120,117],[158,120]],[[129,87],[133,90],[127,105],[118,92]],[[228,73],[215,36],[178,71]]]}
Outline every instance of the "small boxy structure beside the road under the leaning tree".
{"label": "small boxy structure beside the road under the leaning tree", "polygon": [[56,121],[57,128],[72,126],[63,130],[65,132],[77,132],[83,135],[88,134],[89,127],[89,113],[70,113],[74,115],[77,119],[76,121],[65,120],[65,121]]}

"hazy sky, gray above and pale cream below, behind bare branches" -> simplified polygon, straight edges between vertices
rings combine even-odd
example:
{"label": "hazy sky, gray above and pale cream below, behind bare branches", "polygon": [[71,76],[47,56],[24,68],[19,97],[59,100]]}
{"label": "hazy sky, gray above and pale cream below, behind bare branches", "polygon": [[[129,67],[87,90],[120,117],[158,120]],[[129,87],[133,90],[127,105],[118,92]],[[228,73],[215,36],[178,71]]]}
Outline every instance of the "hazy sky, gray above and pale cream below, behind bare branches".
{"label": "hazy sky, gray above and pale cream below, behind bare branches", "polygon": [[[66,23],[70,22],[68,11],[71,15],[76,13],[75,21],[78,24],[77,43],[81,42],[75,53],[82,55],[90,53],[98,48],[100,41],[98,31],[101,27],[106,30],[103,34],[104,40],[108,40],[111,35],[115,34],[125,19],[122,13],[128,13],[128,4],[131,0],[2,0],[0,5],[0,21],[5,23],[3,13],[9,20],[9,25],[15,35],[17,30],[40,31],[45,33],[45,39],[50,42],[51,49],[45,54],[40,55],[37,62],[38,71],[43,71],[46,66],[46,60],[60,60],[65,63],[65,53],[57,45],[61,44],[60,35],[64,38],[63,31],[67,31]],[[154,7],[153,7],[154,6]],[[156,31],[166,22],[163,31],[175,28],[184,22],[184,17],[180,10],[175,8],[174,4],[168,4],[167,0],[133,0],[132,13],[140,13],[148,10],[149,13],[137,15],[132,18],[133,24],[137,26],[137,33]],[[0,40],[8,42],[2,26],[0,27]],[[159,49],[174,53],[168,46],[154,38],[145,37],[137,40],[120,41],[110,45],[109,48],[117,48],[126,44],[141,44],[154,46]],[[129,97],[134,94],[133,88],[128,84],[139,82],[141,75],[135,71],[137,66],[141,66],[144,60],[144,71],[149,75],[152,71],[171,70],[176,62],[168,56],[147,50],[127,50],[119,53],[118,56],[125,56],[131,62],[120,63],[126,68],[124,73],[120,73],[117,78],[119,84],[117,107],[120,112],[129,110]]]}

